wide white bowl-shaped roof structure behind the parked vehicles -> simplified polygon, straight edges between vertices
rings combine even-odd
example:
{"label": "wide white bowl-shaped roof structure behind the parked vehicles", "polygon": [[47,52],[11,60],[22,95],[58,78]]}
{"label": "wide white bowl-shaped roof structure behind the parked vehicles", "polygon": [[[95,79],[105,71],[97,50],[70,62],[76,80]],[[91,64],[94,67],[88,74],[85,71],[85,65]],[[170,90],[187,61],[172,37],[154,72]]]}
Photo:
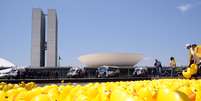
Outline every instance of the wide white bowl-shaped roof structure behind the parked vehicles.
{"label": "wide white bowl-shaped roof structure behind the parked vehicles", "polygon": [[133,66],[142,58],[143,55],[138,53],[97,53],[80,56],[79,60],[88,67],[102,65]]}

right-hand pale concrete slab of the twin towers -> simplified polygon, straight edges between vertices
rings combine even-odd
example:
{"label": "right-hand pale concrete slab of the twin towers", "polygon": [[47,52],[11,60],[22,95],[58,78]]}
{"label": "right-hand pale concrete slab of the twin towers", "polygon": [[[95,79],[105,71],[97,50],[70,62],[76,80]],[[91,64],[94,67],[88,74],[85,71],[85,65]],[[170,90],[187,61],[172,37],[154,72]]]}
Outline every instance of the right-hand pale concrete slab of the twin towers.
{"label": "right-hand pale concrete slab of the twin towers", "polygon": [[48,9],[47,21],[47,67],[57,67],[57,14],[55,9]]}

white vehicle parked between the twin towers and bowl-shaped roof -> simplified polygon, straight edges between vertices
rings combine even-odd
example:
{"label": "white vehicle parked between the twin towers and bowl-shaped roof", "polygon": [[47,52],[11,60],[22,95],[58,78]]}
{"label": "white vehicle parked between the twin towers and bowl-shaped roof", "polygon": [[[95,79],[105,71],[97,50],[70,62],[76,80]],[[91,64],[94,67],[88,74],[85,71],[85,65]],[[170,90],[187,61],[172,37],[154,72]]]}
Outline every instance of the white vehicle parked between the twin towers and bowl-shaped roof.
{"label": "white vehicle parked between the twin towers and bowl-shaped roof", "polygon": [[86,74],[84,68],[79,67],[71,67],[67,73],[67,77],[74,78],[74,77],[84,77]]}

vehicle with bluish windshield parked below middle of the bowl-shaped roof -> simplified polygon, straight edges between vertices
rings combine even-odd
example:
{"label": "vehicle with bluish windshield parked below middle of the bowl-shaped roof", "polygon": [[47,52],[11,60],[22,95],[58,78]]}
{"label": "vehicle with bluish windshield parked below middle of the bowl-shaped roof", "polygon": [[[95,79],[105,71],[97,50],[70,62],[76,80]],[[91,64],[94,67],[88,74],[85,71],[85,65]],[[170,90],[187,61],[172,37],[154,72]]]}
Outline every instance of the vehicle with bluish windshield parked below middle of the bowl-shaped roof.
{"label": "vehicle with bluish windshield parked below middle of the bowl-shaped roof", "polygon": [[96,70],[96,77],[98,78],[118,77],[119,74],[120,70],[117,66],[100,66]]}

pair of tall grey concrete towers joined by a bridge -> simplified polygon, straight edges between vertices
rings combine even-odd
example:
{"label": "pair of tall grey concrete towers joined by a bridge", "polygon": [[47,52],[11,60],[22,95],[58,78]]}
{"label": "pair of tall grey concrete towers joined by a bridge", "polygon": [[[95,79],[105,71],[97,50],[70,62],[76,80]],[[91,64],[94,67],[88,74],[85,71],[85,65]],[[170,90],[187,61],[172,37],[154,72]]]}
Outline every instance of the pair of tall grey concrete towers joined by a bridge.
{"label": "pair of tall grey concrete towers joined by a bridge", "polygon": [[55,9],[33,8],[31,67],[57,67],[57,27]]}

